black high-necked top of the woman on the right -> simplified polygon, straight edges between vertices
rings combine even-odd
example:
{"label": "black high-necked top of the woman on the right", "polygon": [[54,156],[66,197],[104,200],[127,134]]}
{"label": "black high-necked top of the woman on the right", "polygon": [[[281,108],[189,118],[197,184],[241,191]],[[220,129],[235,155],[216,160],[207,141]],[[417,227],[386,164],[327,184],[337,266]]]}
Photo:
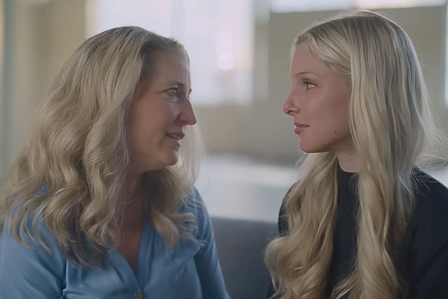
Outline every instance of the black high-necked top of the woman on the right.
{"label": "black high-necked top of the woman on the right", "polygon": [[[328,269],[326,298],[350,271],[357,249],[355,173],[337,170],[338,207],[333,257]],[[409,284],[405,299],[448,299],[448,189],[416,169],[414,214],[400,251],[402,276]],[[280,208],[279,231],[288,230],[284,204]],[[268,298],[273,294],[269,290]]]}

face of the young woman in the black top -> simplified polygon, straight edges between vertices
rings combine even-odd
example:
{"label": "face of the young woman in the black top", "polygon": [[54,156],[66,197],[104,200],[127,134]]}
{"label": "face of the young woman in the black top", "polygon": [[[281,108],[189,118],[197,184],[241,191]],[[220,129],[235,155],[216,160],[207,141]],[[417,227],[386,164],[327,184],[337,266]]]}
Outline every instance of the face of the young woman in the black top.
{"label": "face of the young woman in the black top", "polygon": [[294,118],[304,152],[340,152],[353,146],[349,130],[351,89],[345,78],[297,46],[291,61],[292,89],[283,112]]}

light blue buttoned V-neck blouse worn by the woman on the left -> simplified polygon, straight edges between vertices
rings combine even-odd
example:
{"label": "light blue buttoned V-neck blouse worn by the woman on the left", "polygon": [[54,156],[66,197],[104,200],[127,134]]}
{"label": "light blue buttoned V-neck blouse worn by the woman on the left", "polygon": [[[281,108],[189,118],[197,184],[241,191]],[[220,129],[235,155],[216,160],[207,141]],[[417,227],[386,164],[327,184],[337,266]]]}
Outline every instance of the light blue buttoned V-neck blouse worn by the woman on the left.
{"label": "light blue buttoned V-neck blouse worn by the woman on the left", "polygon": [[21,246],[6,224],[0,238],[0,299],[230,299],[210,217],[196,190],[192,197],[180,212],[195,215],[194,235],[204,245],[185,240],[170,250],[146,221],[137,275],[116,250],[108,252],[104,269],[74,268],[61,256],[43,219],[39,235],[51,254],[29,238],[35,249]]}

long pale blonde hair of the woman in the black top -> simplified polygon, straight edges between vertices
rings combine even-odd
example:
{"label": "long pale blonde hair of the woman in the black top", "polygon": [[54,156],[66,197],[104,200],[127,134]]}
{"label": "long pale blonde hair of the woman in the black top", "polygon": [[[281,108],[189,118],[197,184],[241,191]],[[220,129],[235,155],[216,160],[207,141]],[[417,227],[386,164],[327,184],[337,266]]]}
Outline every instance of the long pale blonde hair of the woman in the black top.
{"label": "long pale blonde hair of the woman in the black top", "polygon": [[[414,46],[383,14],[355,11],[298,35],[311,55],[351,85],[349,125],[363,158],[358,173],[358,252],[333,299],[396,299],[406,292],[398,250],[414,209],[414,165],[438,140]],[[288,232],[267,247],[266,264],[281,299],[322,299],[332,260],[337,157],[310,154],[286,197]],[[324,187],[323,187],[324,186]]]}

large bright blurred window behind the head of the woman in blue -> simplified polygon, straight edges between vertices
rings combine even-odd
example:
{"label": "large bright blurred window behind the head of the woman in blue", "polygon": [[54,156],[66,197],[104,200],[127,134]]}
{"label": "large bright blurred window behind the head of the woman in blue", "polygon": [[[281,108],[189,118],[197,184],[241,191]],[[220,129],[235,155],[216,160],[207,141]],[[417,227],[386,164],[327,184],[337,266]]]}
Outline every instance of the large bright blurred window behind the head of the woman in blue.
{"label": "large bright blurred window behind the head of the woman in blue", "polygon": [[174,37],[190,56],[198,104],[252,99],[254,21],[251,0],[90,0],[87,35],[140,26]]}

